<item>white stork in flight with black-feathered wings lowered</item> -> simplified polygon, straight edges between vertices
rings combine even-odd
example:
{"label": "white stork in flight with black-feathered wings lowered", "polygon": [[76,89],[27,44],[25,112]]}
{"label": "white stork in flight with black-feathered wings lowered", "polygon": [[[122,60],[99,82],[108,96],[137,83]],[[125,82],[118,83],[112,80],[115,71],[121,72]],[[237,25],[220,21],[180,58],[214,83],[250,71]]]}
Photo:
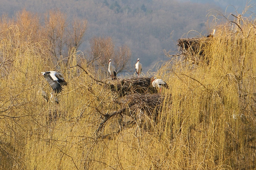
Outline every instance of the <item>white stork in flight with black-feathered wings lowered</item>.
{"label": "white stork in flight with black-feathered wings lowered", "polygon": [[46,71],[41,72],[44,76],[45,80],[51,85],[53,91],[55,93],[59,93],[62,91],[62,85],[67,85],[68,83],[64,80],[64,78],[56,71]]}

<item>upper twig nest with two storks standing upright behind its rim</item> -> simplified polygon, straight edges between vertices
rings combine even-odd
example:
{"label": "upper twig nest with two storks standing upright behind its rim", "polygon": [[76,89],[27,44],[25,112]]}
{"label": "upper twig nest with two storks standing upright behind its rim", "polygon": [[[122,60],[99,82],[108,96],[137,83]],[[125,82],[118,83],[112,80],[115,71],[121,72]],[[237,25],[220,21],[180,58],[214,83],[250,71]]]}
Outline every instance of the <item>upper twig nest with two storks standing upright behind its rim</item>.
{"label": "upper twig nest with two storks standing upright behind its rim", "polygon": [[156,89],[151,85],[151,78],[127,78],[112,81],[110,89],[118,92],[120,96],[128,93],[155,93]]}

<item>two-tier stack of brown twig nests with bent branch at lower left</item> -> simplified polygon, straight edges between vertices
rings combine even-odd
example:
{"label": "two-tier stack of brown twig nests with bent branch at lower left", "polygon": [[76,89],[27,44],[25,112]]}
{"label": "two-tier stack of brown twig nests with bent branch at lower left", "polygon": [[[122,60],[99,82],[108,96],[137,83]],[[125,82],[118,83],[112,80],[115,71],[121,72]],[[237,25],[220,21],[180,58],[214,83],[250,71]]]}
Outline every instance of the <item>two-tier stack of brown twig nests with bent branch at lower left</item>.
{"label": "two-tier stack of brown twig nests with bent branch at lower left", "polygon": [[154,123],[157,122],[163,97],[161,93],[156,93],[157,89],[152,86],[151,80],[152,78],[127,78],[111,81],[107,84],[112,92],[119,95],[114,102],[121,109],[110,114],[102,114],[98,111],[101,115],[101,122],[96,130],[97,138],[110,135],[101,136],[100,133],[104,131],[108,120],[115,115],[121,116],[118,120],[119,129],[113,133],[119,133],[124,127],[133,126],[134,124],[140,127],[146,124],[147,129],[150,129],[148,122],[151,121],[148,120],[152,120]]}

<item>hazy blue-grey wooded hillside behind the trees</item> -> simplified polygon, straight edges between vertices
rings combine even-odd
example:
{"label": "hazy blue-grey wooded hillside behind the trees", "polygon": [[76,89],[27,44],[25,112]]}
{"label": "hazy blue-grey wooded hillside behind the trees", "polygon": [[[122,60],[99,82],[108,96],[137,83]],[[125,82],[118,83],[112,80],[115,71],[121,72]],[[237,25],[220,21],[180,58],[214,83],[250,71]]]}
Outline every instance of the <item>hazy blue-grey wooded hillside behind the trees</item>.
{"label": "hazy blue-grey wooded hillside behind the trees", "polygon": [[[153,66],[166,61],[164,50],[177,52],[177,40],[181,37],[208,35],[212,28],[207,24],[207,14],[218,10],[228,15],[236,9],[242,13],[244,1],[211,0],[2,0],[0,15],[13,17],[17,11],[25,9],[43,14],[59,9],[67,17],[77,17],[88,21],[84,41],[79,50],[84,54],[90,48],[93,37],[111,37],[116,46],[127,45],[132,54],[131,67],[136,59],[143,63],[143,71],[155,71]],[[253,4],[252,2],[249,4]],[[209,11],[210,10],[210,11]],[[255,13],[255,9],[250,9]],[[235,13],[236,14],[236,13]],[[234,17],[231,16],[231,20]],[[190,30],[192,31],[189,34]]]}

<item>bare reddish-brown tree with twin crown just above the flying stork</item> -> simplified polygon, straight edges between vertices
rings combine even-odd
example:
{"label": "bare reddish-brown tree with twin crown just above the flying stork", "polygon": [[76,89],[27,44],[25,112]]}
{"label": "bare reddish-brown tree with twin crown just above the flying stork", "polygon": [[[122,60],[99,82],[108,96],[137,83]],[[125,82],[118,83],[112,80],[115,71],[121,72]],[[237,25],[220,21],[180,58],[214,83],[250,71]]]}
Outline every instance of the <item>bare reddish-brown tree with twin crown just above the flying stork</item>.
{"label": "bare reddish-brown tree with twin crown just above the flying stork", "polygon": [[[78,47],[83,42],[87,21],[74,18],[69,25],[67,16],[60,11],[49,11],[45,16],[45,37],[51,54],[58,61],[65,61],[76,56]],[[57,66],[56,65],[56,66]]]}

